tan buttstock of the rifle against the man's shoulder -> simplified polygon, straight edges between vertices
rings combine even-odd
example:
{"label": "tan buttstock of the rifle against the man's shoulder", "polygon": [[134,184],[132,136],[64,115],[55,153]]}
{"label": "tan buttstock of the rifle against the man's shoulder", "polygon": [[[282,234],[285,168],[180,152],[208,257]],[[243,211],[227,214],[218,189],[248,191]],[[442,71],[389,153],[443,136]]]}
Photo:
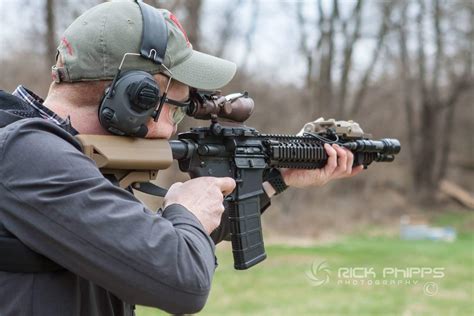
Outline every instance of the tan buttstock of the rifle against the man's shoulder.
{"label": "tan buttstock of the rifle against the man's shoulder", "polygon": [[113,174],[120,187],[156,179],[158,170],[173,162],[166,139],[143,139],[111,135],[78,135],[82,151],[103,174]]}

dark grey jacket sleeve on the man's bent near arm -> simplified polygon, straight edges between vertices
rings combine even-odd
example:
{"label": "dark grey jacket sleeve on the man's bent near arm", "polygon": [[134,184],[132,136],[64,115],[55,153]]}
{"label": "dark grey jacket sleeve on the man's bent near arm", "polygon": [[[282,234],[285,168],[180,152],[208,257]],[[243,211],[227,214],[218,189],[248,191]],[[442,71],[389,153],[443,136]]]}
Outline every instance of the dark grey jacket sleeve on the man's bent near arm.
{"label": "dark grey jacket sleeve on the man's bent near arm", "polygon": [[72,136],[41,119],[0,138],[0,220],[23,243],[122,300],[195,313],[214,243],[181,205],[152,213],[113,186]]}

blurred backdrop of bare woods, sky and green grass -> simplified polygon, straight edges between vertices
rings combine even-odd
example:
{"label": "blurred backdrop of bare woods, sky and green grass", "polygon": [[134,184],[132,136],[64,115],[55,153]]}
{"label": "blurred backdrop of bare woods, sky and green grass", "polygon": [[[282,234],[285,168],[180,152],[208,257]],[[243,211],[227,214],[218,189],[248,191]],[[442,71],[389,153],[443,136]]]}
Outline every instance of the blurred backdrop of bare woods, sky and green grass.
{"label": "blurred backdrop of bare woods, sky and green grass", "polygon": [[[62,32],[100,2],[0,0],[0,89],[23,84],[44,97]],[[295,134],[318,117],[352,119],[374,138],[402,143],[393,163],[275,197],[263,216],[269,258],[235,272],[220,246],[204,313],[474,314],[473,1],[145,2],[173,11],[195,49],[237,63],[223,92],[255,100],[247,125]],[[180,131],[206,124],[188,119]],[[159,176],[164,185],[186,179],[176,166]],[[447,272],[434,296],[420,285],[315,289],[305,269],[316,259]],[[259,297],[269,288],[270,298]]]}

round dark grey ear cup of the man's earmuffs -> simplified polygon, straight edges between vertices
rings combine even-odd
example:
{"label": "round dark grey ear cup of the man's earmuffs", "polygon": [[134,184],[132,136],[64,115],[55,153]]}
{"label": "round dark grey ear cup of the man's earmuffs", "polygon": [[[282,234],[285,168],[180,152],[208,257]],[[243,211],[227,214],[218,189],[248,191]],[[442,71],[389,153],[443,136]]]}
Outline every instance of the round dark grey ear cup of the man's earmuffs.
{"label": "round dark grey ear cup of the man's earmuffs", "polygon": [[99,107],[99,122],[110,133],[144,137],[148,121],[160,100],[160,88],[145,71],[123,73],[114,91],[107,88]]}

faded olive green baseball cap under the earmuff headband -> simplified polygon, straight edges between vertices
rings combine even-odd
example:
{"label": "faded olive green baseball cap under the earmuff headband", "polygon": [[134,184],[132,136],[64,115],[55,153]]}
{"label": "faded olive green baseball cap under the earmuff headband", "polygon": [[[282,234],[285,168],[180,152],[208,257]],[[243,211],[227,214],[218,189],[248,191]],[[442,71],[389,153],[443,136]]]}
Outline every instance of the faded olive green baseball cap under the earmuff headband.
{"label": "faded olive green baseball cap under the earmuff headband", "polygon": [[[163,14],[168,29],[163,62],[166,68],[132,55],[125,59],[123,70],[167,75],[169,70],[173,79],[206,90],[221,88],[234,77],[233,62],[193,50],[178,19],[168,10],[157,10]],[[135,1],[105,2],[87,10],[61,37],[57,54],[61,62],[52,67],[53,80],[113,79],[124,54],[140,52],[142,32],[142,15]]]}

